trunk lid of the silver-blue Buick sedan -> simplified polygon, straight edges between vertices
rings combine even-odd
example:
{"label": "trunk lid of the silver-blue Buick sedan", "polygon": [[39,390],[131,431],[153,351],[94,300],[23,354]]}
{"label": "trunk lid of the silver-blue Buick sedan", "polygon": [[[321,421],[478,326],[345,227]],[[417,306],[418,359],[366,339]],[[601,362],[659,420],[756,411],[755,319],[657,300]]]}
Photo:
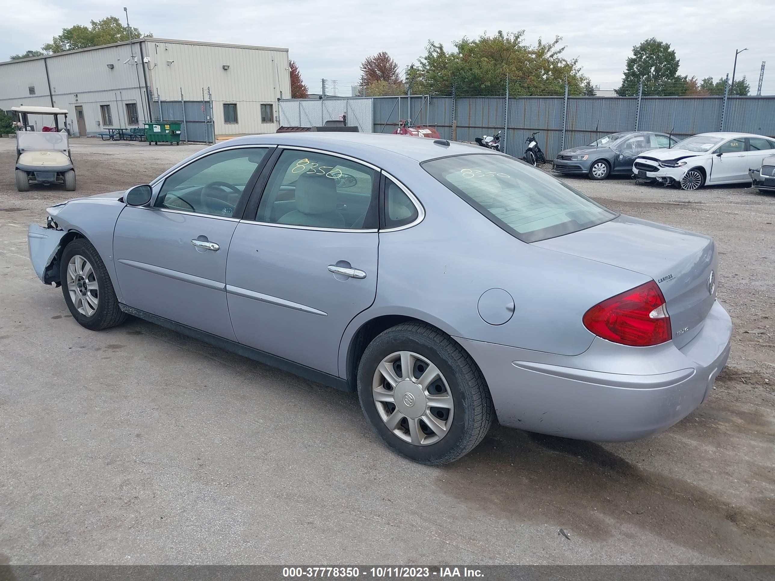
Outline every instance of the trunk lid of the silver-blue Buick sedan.
{"label": "trunk lid of the silver-blue Buick sedan", "polygon": [[667,301],[673,343],[679,349],[700,332],[716,298],[715,244],[713,239],[695,232],[619,216],[532,245],[652,277]]}

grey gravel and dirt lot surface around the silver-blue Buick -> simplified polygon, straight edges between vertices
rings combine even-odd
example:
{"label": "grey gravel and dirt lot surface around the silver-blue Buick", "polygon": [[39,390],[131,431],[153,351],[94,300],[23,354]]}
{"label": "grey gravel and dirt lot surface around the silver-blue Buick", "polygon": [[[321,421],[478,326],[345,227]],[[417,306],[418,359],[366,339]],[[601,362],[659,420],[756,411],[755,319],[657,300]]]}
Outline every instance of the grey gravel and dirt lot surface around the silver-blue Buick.
{"label": "grey gravel and dirt lot surface around the silver-blue Buick", "polygon": [[[198,149],[74,139],[77,195]],[[79,327],[26,249],[71,195],[15,191],[14,161],[0,139],[0,562],[775,563],[775,196],[567,180],[715,237],[729,366],[652,438],[496,427],[431,468],[384,448],[354,394],[145,321]]]}

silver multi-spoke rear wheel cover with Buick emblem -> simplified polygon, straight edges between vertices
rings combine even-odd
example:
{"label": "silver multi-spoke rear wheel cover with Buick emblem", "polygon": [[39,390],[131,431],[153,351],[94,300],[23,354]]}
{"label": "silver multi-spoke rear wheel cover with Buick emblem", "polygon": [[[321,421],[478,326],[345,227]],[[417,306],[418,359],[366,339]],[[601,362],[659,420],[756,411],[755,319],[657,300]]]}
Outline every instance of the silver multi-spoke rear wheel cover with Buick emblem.
{"label": "silver multi-spoke rear wheel cover with Buick emblem", "polygon": [[371,393],[382,421],[405,442],[436,444],[452,427],[449,384],[433,363],[417,353],[397,351],[382,359]]}

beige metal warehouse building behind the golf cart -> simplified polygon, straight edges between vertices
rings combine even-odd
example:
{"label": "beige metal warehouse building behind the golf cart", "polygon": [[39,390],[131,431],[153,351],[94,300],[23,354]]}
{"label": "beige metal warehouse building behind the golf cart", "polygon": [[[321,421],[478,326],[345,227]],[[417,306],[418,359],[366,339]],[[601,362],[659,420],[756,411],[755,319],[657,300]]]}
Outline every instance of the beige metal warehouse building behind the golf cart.
{"label": "beige metal warehouse building behind the golf cart", "polygon": [[290,95],[288,49],[266,46],[143,38],[0,63],[0,109],[67,109],[78,136],[151,121],[185,122],[191,141],[274,132]]}

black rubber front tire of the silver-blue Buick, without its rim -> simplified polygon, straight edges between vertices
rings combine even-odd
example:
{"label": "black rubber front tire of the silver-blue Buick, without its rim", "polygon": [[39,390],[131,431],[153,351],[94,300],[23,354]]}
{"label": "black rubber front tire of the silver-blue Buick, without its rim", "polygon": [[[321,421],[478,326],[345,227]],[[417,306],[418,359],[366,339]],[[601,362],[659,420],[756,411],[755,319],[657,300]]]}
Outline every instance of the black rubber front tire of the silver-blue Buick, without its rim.
{"label": "black rubber front tire of the silver-blue Buick, without its rim", "polygon": [[[94,272],[94,280],[97,282],[98,303],[97,309],[91,316],[87,316],[73,304],[70,290],[67,285],[67,266],[70,260],[76,256],[83,256],[91,264]],[[126,314],[119,308],[119,299],[115,296],[113,284],[105,268],[105,263],[91,242],[84,238],[77,238],[70,242],[64,249],[60,258],[60,280],[62,282],[62,294],[71,315],[81,327],[91,331],[115,327],[126,320]]]}

